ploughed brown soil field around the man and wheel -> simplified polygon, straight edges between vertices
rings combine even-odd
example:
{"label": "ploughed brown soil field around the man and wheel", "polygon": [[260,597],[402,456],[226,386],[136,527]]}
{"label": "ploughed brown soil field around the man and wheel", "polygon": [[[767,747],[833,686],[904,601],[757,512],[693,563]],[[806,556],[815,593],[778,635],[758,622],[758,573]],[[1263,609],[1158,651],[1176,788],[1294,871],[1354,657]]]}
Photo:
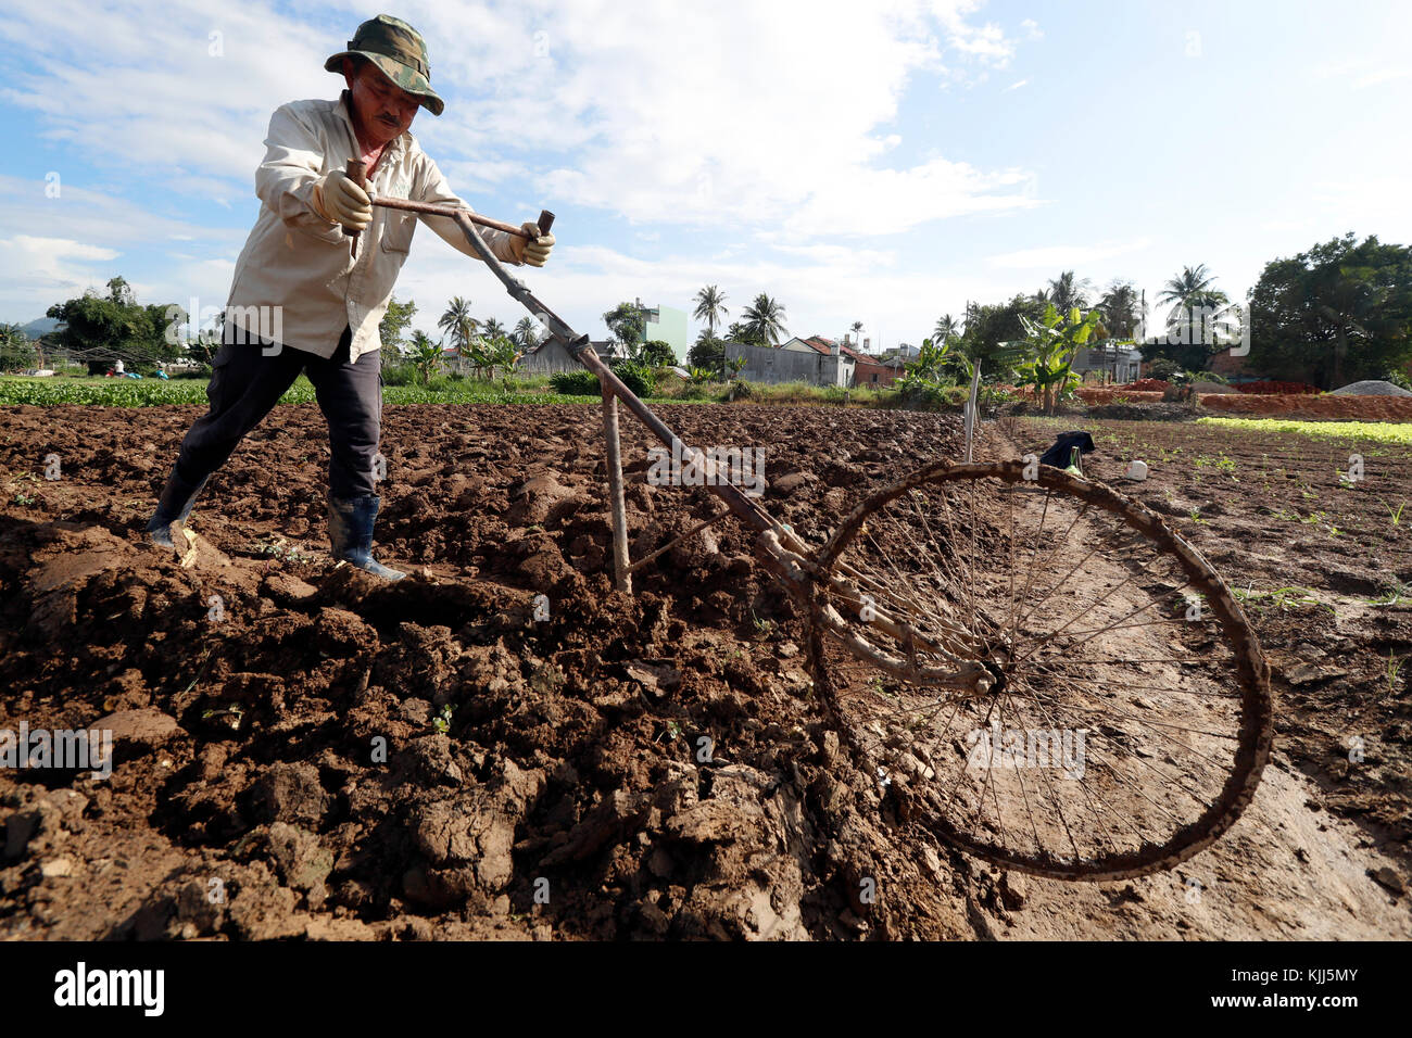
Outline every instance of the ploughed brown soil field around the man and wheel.
{"label": "ploughed brown soil field around the man and wheel", "polygon": [[[1213,849],[1075,885],[967,859],[842,761],[801,620],[734,520],[614,593],[597,408],[388,407],[378,551],[411,569],[397,585],[328,562],[309,404],[213,479],[193,554],[144,547],[196,414],[3,412],[0,729],[116,713],[121,734],[107,780],[0,777],[6,936],[1412,936],[1405,442],[1082,422],[1089,475],[1238,589],[1278,734]],[[765,503],[812,542],[959,449],[943,415],[661,414],[690,442],[762,446]],[[987,424],[980,455],[1073,421]],[[626,429],[641,558],[716,503],[650,486]],[[1131,458],[1145,483],[1121,482]],[[882,895],[864,902],[868,878]]]}

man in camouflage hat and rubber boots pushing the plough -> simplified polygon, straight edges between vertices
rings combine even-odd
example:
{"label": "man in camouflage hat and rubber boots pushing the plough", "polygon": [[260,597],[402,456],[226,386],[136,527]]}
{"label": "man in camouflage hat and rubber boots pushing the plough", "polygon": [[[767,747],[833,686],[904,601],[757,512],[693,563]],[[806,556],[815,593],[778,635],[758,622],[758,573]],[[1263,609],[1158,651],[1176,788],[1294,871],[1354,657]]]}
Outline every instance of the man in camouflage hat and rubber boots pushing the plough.
{"label": "man in camouflage hat and rubber boots pushing the plough", "polygon": [[[417,30],[380,14],[323,68],[347,82],[339,100],[291,102],[270,119],[256,169],[260,216],[236,261],[223,342],[210,362],[210,410],[186,432],[147,532],[174,547],[171,524],[185,523],[210,475],[305,371],[329,424],[333,556],[397,580],[404,573],[373,558],[381,503],[373,472],[383,414],[378,322],[418,216],[374,215],[369,191],[345,168],[350,158],[367,162],[373,195],[470,206],[408,133],[418,107],[433,116],[443,109]],[[419,219],[476,256],[449,216]],[[541,236],[532,222],[522,229],[528,239],[480,233],[497,258],[542,267],[554,236]],[[353,232],[361,232],[356,257]]]}

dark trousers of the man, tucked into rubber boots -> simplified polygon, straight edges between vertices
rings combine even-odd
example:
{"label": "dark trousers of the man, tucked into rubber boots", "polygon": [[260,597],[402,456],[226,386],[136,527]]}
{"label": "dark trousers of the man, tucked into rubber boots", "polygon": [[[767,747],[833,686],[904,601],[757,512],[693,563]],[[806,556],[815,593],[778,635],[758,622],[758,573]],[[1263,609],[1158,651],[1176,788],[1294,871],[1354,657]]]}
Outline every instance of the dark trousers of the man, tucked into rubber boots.
{"label": "dark trousers of the man, tucked into rubber boots", "polygon": [[299,373],[306,371],[319,410],[329,424],[333,453],[329,460],[329,494],[349,499],[377,493],[373,459],[383,424],[378,352],[371,350],[357,363],[349,363],[353,333],[346,328],[328,360],[288,346],[261,345],[254,336],[247,342],[233,325],[226,325],[225,339],[210,360],[212,376],[206,387],[210,410],[192,424],[182,439],[172,480],[198,487],[226,463]]}

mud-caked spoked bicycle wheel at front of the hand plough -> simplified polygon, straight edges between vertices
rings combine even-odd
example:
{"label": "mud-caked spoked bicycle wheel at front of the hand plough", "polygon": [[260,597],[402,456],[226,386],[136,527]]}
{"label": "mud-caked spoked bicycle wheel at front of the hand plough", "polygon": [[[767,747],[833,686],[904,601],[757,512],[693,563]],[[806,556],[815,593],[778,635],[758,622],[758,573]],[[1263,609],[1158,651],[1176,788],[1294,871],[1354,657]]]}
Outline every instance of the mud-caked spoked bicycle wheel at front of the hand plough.
{"label": "mud-caked spoked bicycle wheel at front of the hand plough", "polygon": [[816,682],[878,781],[971,854],[1141,876],[1254,797],[1268,665],[1145,506],[1038,463],[939,463],[866,500],[816,561]]}

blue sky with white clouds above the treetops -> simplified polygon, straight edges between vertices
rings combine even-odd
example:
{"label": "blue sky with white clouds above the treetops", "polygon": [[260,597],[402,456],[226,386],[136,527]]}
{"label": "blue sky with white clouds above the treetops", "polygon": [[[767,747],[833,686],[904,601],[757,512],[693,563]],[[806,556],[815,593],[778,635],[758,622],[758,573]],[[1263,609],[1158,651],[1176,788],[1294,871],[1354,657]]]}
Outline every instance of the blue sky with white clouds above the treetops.
{"label": "blue sky with white clouds above the treetops", "polygon": [[[8,0],[0,321],[128,278],[225,302],[270,113],[337,96],[347,4]],[[558,215],[531,285],[604,335],[620,299],[799,335],[918,342],[967,299],[1073,268],[1149,297],[1206,263],[1353,230],[1412,241],[1412,4],[1226,0],[405,3],[441,119],[412,133],[477,209]],[[55,192],[54,188],[58,188]],[[48,191],[47,191],[48,188]],[[51,196],[56,193],[58,196]],[[398,298],[513,323],[483,268],[417,234]],[[695,333],[698,325],[692,322]]]}

